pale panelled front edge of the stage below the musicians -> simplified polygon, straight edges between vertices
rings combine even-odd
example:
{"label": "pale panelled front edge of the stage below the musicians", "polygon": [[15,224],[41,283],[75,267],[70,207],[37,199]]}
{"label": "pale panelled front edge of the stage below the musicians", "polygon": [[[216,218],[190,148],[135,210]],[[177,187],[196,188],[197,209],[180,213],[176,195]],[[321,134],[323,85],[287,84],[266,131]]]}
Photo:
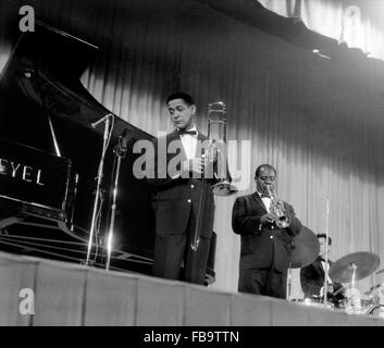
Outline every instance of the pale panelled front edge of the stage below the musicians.
{"label": "pale panelled front edge of the stage below the musicians", "polygon": [[0,252],[0,325],[384,326],[384,319]]}

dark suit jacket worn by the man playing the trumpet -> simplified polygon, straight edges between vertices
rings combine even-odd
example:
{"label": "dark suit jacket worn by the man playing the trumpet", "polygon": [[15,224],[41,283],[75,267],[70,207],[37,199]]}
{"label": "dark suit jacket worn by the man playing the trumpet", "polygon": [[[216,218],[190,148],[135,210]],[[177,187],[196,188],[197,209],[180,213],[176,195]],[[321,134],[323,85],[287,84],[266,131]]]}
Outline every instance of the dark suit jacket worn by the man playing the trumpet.
{"label": "dark suit jacket worn by the man playing the trumpet", "polygon": [[292,206],[284,202],[290,215],[289,227],[278,228],[275,224],[261,224],[260,217],[268,211],[260,198],[252,195],[238,197],[232,211],[232,228],[241,236],[240,271],[265,269],[271,265],[286,274],[289,263],[292,238],[301,229]]}

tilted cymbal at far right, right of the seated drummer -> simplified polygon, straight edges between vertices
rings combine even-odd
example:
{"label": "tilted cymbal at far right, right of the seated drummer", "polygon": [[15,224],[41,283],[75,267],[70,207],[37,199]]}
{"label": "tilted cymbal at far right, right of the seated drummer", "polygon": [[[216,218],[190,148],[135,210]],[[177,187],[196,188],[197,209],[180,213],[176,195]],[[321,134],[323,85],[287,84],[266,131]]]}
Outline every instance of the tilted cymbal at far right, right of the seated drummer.
{"label": "tilted cymbal at far right, right of the seated drummer", "polygon": [[330,277],[334,282],[350,283],[352,281],[355,263],[355,281],[363,279],[379,266],[380,258],[368,251],[354,252],[338,259],[330,269]]}

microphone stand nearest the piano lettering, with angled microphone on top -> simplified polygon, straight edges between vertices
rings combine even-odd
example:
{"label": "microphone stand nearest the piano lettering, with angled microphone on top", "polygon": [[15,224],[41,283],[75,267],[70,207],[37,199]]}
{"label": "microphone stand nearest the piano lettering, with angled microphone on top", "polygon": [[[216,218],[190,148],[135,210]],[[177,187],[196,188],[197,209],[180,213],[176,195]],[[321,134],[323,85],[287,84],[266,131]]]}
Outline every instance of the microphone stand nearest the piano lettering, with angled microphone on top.
{"label": "microphone stand nearest the piano lettering, with angled microphone on top", "polygon": [[[97,210],[98,210],[98,204],[99,204],[100,186],[101,186],[101,181],[102,181],[102,171],[103,171],[103,166],[104,166],[104,157],[106,157],[108,134],[109,134],[109,127],[110,127],[110,116],[112,116],[112,114],[108,114],[107,116],[101,119],[102,121],[106,121],[104,136],[103,136],[103,141],[102,141],[101,159],[100,159],[100,164],[99,164],[99,170],[98,170],[98,175],[97,175],[97,188],[96,188],[96,196],[95,196],[95,202],[94,202],[94,213],[92,213],[92,221],[90,224],[88,251],[87,251],[87,259],[85,261],[85,265],[89,265],[90,251],[92,248],[92,239],[94,239],[95,225],[96,225],[96,219],[97,219],[96,215],[97,215]],[[99,120],[97,123],[101,122],[101,120]],[[96,127],[97,123],[92,124],[94,128]]]}

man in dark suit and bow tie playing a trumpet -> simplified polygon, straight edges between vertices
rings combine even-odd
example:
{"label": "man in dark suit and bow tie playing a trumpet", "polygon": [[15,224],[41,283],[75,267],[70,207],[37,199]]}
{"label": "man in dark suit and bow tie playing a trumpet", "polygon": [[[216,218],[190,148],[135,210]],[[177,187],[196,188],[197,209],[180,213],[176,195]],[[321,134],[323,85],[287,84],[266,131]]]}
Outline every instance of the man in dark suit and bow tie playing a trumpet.
{"label": "man in dark suit and bow tie playing a trumpet", "polygon": [[292,238],[301,229],[294,208],[275,195],[276,170],[258,166],[256,191],[238,197],[232,228],[241,236],[238,290],[286,298]]}

